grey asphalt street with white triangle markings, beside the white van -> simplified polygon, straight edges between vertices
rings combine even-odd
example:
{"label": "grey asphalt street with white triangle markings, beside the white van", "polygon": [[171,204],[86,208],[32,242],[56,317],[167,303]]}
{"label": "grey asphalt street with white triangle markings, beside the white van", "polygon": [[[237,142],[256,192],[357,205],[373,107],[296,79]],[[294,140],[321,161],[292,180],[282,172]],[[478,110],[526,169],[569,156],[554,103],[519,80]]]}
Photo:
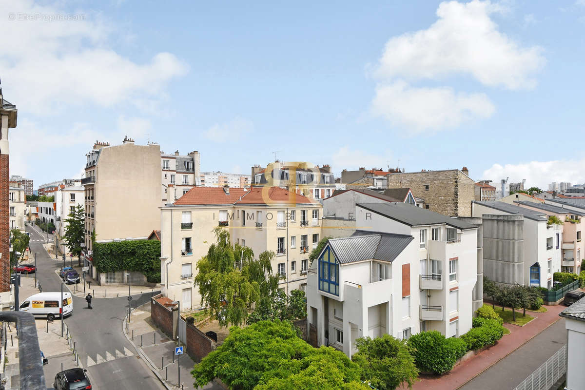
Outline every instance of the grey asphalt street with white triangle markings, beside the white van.
{"label": "grey asphalt street with white triangle markings, beside the white van", "polygon": [[[39,253],[37,278],[43,291],[61,291],[61,279],[55,270],[63,266],[63,260],[48,256],[42,246],[43,242],[47,242],[46,235],[40,235],[30,226],[26,227],[26,231],[30,233],[30,250],[33,254]],[[73,288],[73,285],[70,287]],[[20,301],[26,298],[22,296]],[[149,299],[150,293],[134,295],[132,306],[142,305]],[[81,363],[88,370],[92,387],[97,390],[164,389],[122,334],[122,321],[128,313],[126,297],[93,299],[92,306],[93,310],[87,309],[85,299],[73,296],[73,314],[64,319],[76,343]],[[88,362],[95,364],[88,367]],[[46,378],[47,385],[52,385],[53,379],[54,377]]]}

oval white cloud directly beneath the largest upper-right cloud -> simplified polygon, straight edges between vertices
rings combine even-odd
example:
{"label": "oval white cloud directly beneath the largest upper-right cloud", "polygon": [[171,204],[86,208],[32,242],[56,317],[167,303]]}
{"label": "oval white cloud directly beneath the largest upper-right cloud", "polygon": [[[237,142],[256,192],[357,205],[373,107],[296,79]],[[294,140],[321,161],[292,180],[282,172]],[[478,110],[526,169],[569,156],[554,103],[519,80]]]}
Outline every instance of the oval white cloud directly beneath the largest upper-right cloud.
{"label": "oval white cloud directly beneath the largest upper-right cloud", "polygon": [[415,88],[404,81],[378,85],[373,112],[411,133],[450,129],[472,118],[489,118],[495,111],[486,94],[464,94],[452,88]]}

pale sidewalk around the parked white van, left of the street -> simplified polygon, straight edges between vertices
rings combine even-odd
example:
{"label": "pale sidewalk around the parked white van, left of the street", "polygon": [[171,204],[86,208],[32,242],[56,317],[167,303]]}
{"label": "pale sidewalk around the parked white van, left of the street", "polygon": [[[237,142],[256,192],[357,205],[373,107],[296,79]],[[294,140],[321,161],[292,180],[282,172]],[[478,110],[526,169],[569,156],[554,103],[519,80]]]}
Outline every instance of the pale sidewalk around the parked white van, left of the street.
{"label": "pale sidewalk around the parked white van, left of the street", "polygon": [[[19,295],[22,299],[39,292],[35,288],[35,278],[20,278]],[[40,350],[44,356],[49,359],[49,363],[43,367],[46,384],[50,387],[57,372],[67,368],[81,367],[73,354],[73,341],[68,337],[67,325],[64,324],[63,337],[61,337],[61,320],[47,321],[46,319],[36,320],[37,337],[39,338]],[[11,339],[12,337],[12,339]],[[18,359],[18,338],[15,324],[9,323],[9,331],[6,344],[6,363],[5,378],[6,389],[18,389],[20,386],[19,359]],[[40,356],[39,356],[40,359]]]}

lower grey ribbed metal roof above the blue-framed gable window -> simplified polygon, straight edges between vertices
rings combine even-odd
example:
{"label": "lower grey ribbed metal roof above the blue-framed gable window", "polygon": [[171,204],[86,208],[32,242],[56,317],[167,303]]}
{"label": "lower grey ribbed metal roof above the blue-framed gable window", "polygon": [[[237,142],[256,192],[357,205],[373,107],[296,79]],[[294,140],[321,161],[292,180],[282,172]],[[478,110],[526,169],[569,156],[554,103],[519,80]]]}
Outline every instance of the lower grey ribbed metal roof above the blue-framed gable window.
{"label": "lower grey ribbed metal roof above the blue-framed gable window", "polygon": [[350,237],[330,239],[329,247],[340,264],[363,260],[392,262],[408,246],[412,236],[357,230]]}

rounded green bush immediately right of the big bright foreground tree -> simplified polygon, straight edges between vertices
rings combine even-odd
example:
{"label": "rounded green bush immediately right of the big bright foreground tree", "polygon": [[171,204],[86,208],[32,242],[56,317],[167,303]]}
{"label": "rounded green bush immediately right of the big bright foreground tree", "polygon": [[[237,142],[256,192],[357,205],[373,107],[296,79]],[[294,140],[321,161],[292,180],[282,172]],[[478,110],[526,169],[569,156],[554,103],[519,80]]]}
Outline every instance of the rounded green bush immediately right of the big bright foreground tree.
{"label": "rounded green bush immediately right of the big bright foreground tree", "polygon": [[362,379],[374,388],[393,390],[405,382],[409,388],[417,380],[418,370],[405,340],[389,334],[356,340],[358,352],[352,360],[362,367]]}

